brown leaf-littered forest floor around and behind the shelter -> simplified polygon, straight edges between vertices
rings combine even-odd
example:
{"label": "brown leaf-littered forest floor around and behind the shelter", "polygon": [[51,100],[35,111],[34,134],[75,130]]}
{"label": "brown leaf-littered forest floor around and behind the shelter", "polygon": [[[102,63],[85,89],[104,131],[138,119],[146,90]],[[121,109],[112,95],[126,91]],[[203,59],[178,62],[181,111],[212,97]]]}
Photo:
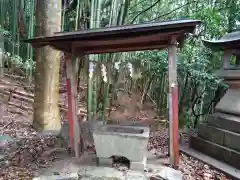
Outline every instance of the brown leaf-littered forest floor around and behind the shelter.
{"label": "brown leaf-littered forest floor around and behind the shelter", "polygon": [[[10,99],[8,99],[9,91],[3,90],[7,89],[8,86],[14,86]],[[5,95],[0,100],[0,136],[9,135],[14,142],[17,142],[12,144],[0,141],[0,155],[1,152],[8,155],[7,158],[0,160],[0,180],[32,179],[38,169],[48,167],[52,162],[56,161],[56,152],[49,152],[63,148],[61,148],[57,138],[39,136],[32,127],[33,95],[30,92],[22,88],[21,84],[13,82],[12,79],[5,79],[0,82],[0,91],[1,94]],[[153,104],[139,105],[140,96],[125,97],[124,95],[124,98],[121,99],[114,103],[114,113],[110,114],[113,120],[144,121],[146,123],[149,121],[152,124],[153,119],[157,118]],[[65,119],[65,104],[66,92],[63,91],[60,105],[62,120]],[[80,109],[80,112],[86,112],[84,105]],[[168,149],[167,129],[160,126],[154,128],[153,131],[149,139],[149,151],[156,155],[166,154]],[[180,154],[179,169],[183,172],[185,180],[228,179],[217,170],[182,153]]]}

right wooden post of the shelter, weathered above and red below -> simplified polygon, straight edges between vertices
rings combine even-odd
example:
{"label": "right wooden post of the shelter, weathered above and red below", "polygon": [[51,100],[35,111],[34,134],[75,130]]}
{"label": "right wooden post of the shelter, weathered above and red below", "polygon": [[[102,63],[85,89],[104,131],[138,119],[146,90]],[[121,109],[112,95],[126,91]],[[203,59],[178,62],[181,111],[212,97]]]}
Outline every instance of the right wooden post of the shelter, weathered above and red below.
{"label": "right wooden post of the shelter, weathered above and red below", "polygon": [[169,75],[169,152],[172,167],[179,166],[179,133],[178,133],[178,84],[177,84],[177,41],[172,39],[168,48]]}

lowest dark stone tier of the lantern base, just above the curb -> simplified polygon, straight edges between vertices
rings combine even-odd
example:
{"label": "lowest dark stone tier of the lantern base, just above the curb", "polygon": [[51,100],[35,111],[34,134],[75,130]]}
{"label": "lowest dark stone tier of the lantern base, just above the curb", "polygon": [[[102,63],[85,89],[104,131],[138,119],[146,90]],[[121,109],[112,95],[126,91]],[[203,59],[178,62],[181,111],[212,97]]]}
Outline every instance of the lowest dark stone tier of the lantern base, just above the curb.
{"label": "lowest dark stone tier of the lantern base, just above the curb", "polygon": [[240,169],[240,153],[203,138],[190,136],[191,148]]}

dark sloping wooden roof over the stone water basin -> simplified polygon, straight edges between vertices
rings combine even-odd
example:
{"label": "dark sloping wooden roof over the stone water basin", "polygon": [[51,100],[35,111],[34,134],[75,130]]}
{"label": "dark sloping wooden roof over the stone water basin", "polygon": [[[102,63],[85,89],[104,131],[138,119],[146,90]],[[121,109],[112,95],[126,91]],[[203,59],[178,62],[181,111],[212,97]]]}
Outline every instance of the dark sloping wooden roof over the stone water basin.
{"label": "dark sloping wooden roof over the stone water basin", "polygon": [[181,43],[201,21],[177,20],[137,25],[59,32],[48,37],[24,40],[38,48],[50,45],[75,55],[164,49],[176,37]]}

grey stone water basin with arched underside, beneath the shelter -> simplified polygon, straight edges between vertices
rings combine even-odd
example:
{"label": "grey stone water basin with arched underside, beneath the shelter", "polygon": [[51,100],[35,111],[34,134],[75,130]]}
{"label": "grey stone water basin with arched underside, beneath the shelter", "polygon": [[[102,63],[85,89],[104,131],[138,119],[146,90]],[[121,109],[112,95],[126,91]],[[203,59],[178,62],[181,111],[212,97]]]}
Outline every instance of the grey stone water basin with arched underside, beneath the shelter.
{"label": "grey stone water basin with arched underside, beneath the shelter", "polygon": [[99,163],[122,156],[134,170],[144,170],[146,166],[148,138],[149,127],[145,126],[101,125],[93,129]]}

